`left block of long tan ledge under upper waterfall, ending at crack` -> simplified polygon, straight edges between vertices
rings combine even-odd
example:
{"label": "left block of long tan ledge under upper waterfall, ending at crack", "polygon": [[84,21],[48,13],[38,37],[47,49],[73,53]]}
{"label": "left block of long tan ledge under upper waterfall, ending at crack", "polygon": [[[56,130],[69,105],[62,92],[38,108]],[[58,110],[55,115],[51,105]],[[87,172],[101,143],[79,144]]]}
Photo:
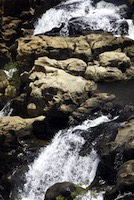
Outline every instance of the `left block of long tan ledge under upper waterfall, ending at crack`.
{"label": "left block of long tan ledge under upper waterfall, ending at crack", "polygon": [[[18,40],[17,59],[24,70],[33,65],[38,57],[64,60],[70,57],[80,58],[84,61],[92,60],[92,52],[86,38],[31,36]],[[25,57],[25,59],[24,59]]]}

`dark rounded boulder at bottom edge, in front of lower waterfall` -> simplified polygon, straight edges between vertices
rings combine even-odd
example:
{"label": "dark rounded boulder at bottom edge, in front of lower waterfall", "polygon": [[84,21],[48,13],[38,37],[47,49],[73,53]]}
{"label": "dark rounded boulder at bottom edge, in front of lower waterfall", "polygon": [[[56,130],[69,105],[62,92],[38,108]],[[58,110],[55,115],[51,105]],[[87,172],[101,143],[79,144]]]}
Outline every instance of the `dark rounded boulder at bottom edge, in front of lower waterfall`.
{"label": "dark rounded boulder at bottom edge, in front of lower waterfall", "polygon": [[55,183],[46,191],[44,200],[56,200],[64,198],[73,200],[78,194],[86,190],[70,182]]}

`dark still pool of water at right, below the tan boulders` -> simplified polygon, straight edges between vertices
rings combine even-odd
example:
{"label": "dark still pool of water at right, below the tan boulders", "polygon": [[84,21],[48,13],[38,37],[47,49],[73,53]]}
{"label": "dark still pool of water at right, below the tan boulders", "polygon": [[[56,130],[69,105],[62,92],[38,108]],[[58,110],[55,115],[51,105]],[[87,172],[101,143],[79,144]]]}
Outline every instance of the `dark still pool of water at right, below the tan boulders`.
{"label": "dark still pool of water at right, below the tan boulders", "polygon": [[115,101],[123,105],[134,105],[134,80],[98,83],[98,91],[115,94]]}

